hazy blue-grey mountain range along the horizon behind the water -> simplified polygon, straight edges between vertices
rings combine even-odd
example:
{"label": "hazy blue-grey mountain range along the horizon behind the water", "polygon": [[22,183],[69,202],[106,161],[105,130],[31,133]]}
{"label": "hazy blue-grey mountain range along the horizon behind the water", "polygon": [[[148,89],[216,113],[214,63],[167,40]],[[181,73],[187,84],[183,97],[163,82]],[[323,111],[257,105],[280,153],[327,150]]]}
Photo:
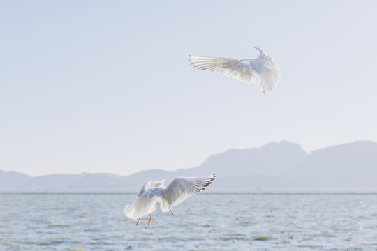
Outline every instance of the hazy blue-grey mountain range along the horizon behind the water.
{"label": "hazy blue-grey mountain range along the horizon behind the water", "polygon": [[52,174],[31,177],[0,170],[0,191],[136,191],[146,181],[216,174],[213,190],[343,189],[377,190],[377,143],[353,142],[306,153],[299,144],[269,143],[260,148],[230,149],[210,156],[199,167],[152,169],[131,176]]}

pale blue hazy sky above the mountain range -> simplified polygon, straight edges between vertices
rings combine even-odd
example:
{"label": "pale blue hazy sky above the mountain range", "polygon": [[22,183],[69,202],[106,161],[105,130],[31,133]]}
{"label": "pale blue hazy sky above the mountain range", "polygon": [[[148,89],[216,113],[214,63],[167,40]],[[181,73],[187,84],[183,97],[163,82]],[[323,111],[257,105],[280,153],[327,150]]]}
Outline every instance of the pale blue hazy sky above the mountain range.
{"label": "pale blue hazy sky above the mountain range", "polygon": [[[0,169],[178,169],[288,140],[377,141],[376,1],[1,1]],[[279,86],[188,54],[281,67]],[[273,158],[273,156],[272,156]]]}

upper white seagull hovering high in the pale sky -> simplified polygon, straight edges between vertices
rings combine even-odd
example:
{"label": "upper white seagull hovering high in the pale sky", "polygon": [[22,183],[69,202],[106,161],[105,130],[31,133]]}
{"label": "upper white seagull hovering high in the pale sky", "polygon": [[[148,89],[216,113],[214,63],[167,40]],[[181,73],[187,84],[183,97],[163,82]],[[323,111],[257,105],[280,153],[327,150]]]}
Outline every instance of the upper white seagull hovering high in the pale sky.
{"label": "upper white seagull hovering high in the pale sky", "polygon": [[190,56],[191,65],[200,70],[223,73],[242,82],[257,84],[263,91],[272,91],[279,82],[281,71],[274,59],[263,52],[260,47],[257,59],[227,59],[209,56]]}

